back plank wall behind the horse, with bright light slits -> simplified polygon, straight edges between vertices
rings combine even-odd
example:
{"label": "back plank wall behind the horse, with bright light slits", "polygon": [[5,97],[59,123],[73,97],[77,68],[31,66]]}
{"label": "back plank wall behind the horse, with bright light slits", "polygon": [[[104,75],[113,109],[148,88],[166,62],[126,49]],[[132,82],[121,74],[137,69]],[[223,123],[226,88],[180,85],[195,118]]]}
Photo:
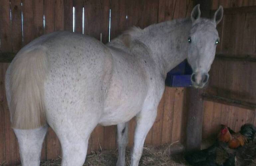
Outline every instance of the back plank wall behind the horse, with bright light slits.
{"label": "back plank wall behind the horse, with bright light slits", "polygon": [[[22,2],[22,4],[21,4]],[[95,37],[106,43],[132,25],[144,28],[150,24],[184,18],[192,10],[191,0],[0,0],[0,53],[17,52],[31,40],[59,30],[72,31],[72,7],[75,7],[76,33]],[[84,7],[84,29],[82,29]],[[10,14],[11,13],[11,14]],[[22,18],[23,15],[23,18]],[[126,19],[127,16],[127,19]],[[44,18],[44,21],[43,21]],[[23,19],[23,23],[22,23]],[[45,27],[44,27],[45,24]],[[18,143],[10,123],[6,103],[4,76],[8,63],[0,63],[0,164],[20,162]],[[160,102],[158,116],[146,143],[159,145],[184,141],[186,109],[185,88],[166,87]],[[129,124],[129,147],[133,143],[135,121]],[[98,126],[89,140],[88,153],[116,148],[116,127]],[[61,155],[60,142],[49,128],[42,149],[42,160]]]}

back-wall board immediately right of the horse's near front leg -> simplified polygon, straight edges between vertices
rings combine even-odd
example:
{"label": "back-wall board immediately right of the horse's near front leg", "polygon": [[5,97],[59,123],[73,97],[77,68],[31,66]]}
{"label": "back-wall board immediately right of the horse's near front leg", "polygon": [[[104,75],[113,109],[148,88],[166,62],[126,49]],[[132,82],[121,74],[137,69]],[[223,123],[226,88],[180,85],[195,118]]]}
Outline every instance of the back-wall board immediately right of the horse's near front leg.
{"label": "back-wall board immediately right of the horse's near front leg", "polygon": [[158,105],[157,109],[157,117],[155,120],[155,123],[152,126],[152,145],[160,145],[161,144],[161,137],[162,137],[162,126],[163,126],[163,112],[164,112],[164,105],[165,105],[165,96],[166,94],[166,89],[165,92],[162,96],[162,99]]}

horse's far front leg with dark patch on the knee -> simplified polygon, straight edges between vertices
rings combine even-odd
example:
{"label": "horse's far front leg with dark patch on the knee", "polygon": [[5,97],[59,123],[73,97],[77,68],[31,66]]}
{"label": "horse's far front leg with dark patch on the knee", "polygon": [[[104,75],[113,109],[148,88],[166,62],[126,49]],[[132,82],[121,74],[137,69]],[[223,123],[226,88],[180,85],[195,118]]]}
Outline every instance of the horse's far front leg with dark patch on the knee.
{"label": "horse's far front leg with dark patch on the knee", "polygon": [[125,149],[128,144],[128,122],[117,124],[118,160],[117,166],[125,166]]}

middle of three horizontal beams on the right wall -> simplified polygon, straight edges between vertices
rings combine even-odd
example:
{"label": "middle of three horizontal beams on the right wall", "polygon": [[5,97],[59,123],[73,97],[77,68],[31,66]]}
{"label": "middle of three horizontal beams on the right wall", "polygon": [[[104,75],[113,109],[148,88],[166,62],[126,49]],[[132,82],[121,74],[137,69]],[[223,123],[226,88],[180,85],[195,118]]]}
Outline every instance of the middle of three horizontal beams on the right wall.
{"label": "middle of three horizontal beams on the right wall", "polygon": [[216,54],[215,58],[232,61],[247,61],[256,62],[255,55],[231,55],[231,54]]}

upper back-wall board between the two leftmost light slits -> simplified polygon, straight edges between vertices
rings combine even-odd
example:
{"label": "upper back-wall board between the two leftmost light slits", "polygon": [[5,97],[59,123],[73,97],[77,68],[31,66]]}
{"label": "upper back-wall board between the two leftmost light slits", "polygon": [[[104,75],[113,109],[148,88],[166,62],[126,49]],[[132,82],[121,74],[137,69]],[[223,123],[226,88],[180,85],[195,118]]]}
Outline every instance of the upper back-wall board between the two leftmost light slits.
{"label": "upper back-wall board between the two leftmost light slits", "polygon": [[18,52],[22,47],[21,0],[11,0],[12,11],[12,51]]}

